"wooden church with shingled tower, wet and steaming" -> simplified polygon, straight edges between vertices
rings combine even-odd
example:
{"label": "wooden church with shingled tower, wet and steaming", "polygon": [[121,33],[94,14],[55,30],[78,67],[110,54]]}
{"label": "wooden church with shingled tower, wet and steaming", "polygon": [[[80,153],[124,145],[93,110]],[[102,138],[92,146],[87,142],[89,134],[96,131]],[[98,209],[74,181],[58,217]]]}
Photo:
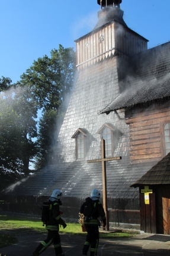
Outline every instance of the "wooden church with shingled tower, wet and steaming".
{"label": "wooden church with shingled tower, wet and steaming", "polygon": [[54,163],[3,196],[9,210],[40,214],[41,202],[61,189],[63,217],[78,218],[97,188],[107,192],[110,223],[170,233],[170,43],[147,49],[123,20],[121,0],[97,4],[96,26],[75,40],[77,76]]}

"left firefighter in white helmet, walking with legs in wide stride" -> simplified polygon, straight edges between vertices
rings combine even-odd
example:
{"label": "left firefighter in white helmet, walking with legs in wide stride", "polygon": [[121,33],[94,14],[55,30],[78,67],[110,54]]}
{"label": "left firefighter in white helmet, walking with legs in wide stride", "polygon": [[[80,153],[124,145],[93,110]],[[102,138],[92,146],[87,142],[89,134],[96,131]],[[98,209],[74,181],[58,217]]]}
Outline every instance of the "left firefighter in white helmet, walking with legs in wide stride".
{"label": "left firefighter in white helmet, walking with legs in wide stride", "polygon": [[59,235],[59,224],[62,225],[64,229],[67,226],[65,221],[60,217],[60,205],[62,205],[62,201],[60,200],[61,196],[62,192],[59,189],[55,189],[49,198],[49,220],[46,221],[46,229],[48,231],[47,239],[40,243],[32,256],[40,255],[52,243],[57,256],[65,255],[62,251]]}

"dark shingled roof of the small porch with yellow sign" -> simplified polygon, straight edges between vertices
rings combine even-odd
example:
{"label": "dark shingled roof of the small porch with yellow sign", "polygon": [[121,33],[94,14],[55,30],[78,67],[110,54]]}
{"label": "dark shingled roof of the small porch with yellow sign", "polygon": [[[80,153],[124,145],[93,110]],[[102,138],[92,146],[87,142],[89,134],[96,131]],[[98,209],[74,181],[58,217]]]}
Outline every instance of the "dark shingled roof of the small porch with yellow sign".
{"label": "dark shingled roof of the small porch with yellow sign", "polygon": [[162,158],[155,166],[153,166],[146,174],[137,180],[131,187],[140,185],[162,185],[170,184],[170,153]]}

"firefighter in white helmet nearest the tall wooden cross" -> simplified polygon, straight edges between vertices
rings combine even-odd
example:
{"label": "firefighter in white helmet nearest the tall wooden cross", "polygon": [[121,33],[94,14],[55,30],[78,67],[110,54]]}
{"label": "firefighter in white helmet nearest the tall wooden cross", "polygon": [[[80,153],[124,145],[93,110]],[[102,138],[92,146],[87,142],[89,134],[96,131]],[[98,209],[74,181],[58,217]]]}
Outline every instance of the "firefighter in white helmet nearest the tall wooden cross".
{"label": "firefighter in white helmet nearest the tall wooden cross", "polygon": [[105,212],[100,202],[100,192],[97,189],[93,189],[91,191],[91,198],[86,198],[85,202],[81,206],[80,213],[84,214],[85,216],[84,224],[87,231],[86,241],[82,249],[82,254],[87,255],[88,249],[90,247],[90,256],[96,256],[99,242],[99,218],[102,221],[102,226],[106,226]]}

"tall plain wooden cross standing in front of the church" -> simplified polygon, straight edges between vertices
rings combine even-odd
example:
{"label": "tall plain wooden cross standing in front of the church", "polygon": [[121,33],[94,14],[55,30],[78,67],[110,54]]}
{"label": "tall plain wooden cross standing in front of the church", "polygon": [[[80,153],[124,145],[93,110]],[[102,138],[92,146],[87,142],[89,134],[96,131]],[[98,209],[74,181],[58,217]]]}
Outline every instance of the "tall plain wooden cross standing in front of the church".
{"label": "tall plain wooden cross standing in front of the church", "polygon": [[107,177],[106,177],[106,167],[105,162],[106,161],[112,161],[112,160],[120,160],[121,157],[110,157],[105,158],[105,141],[103,138],[101,138],[101,159],[94,159],[94,160],[87,160],[87,163],[95,163],[95,162],[101,162],[102,163],[102,193],[103,193],[103,208],[105,211],[105,217],[106,217],[106,227],[105,229],[109,230],[109,220],[108,220],[108,208],[107,208]]}

